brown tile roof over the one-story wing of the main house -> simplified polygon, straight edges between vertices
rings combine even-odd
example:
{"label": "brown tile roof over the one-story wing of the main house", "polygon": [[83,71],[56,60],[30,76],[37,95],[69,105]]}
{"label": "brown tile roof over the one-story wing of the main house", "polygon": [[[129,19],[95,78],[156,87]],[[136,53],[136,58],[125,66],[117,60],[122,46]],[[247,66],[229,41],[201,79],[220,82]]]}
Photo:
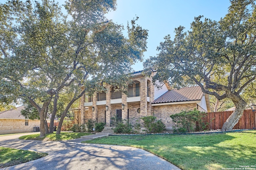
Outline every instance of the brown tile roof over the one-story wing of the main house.
{"label": "brown tile roof over the one-story wing of the main house", "polygon": [[185,87],[178,89],[169,90],[156,100],[152,104],[157,103],[171,103],[171,102],[188,102],[201,100],[204,96],[200,86]]}

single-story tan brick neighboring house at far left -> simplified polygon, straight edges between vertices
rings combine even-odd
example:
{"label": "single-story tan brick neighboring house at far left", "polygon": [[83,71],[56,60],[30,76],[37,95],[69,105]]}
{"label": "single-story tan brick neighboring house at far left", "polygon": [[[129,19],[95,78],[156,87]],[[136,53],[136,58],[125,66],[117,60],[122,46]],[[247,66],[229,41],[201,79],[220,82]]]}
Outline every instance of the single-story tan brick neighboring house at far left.
{"label": "single-story tan brick neighboring house at far left", "polygon": [[21,110],[25,106],[0,112],[0,135],[9,133],[33,132],[34,127],[40,127],[40,120],[25,119]]}

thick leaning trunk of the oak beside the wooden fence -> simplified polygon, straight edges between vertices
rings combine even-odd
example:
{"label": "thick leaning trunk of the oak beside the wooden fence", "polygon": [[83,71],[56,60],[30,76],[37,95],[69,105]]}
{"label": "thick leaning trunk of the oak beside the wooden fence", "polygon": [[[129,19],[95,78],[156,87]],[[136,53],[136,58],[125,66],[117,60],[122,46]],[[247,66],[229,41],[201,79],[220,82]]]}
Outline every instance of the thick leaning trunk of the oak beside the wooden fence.
{"label": "thick leaning trunk of the oak beside the wooden fence", "polygon": [[233,129],[233,127],[236,125],[236,123],[238,123],[239,119],[242,117],[242,115],[244,113],[244,109],[246,107],[246,102],[244,100],[242,100],[242,98],[238,101],[233,100],[233,102],[236,106],[236,109],[230,115],[230,117],[228,117],[226,122],[223,124],[222,129],[221,129],[222,131],[231,131]]}

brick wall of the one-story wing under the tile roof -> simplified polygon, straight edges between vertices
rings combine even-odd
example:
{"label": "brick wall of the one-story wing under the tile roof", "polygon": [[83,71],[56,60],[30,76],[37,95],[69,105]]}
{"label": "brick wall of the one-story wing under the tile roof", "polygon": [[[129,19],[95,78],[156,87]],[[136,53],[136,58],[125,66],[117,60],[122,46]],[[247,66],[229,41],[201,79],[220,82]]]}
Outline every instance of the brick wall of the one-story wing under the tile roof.
{"label": "brick wall of the one-story wing under the tile roof", "polygon": [[193,110],[196,108],[196,104],[173,104],[152,107],[154,116],[157,117],[157,119],[162,119],[162,122],[166,125],[166,129],[172,130],[174,123],[170,115],[180,113],[182,110]]}

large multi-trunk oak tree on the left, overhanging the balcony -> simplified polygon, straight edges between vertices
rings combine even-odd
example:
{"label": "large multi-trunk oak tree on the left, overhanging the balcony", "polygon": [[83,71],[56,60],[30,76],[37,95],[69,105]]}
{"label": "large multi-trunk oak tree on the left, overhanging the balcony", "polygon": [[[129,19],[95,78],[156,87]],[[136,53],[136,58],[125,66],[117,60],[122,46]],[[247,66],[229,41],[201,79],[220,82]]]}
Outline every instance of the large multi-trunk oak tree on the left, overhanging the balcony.
{"label": "large multi-trunk oak tree on the left, overhanging the balcony", "polygon": [[61,114],[61,127],[68,109],[84,92],[101,89],[103,80],[124,86],[131,64],[142,60],[148,31],[136,25],[135,18],[125,37],[122,25],[104,17],[115,8],[116,0],[69,0],[68,20],[51,0],[0,4],[0,100],[21,98],[34,106],[40,136],[48,130],[48,107],[53,102],[56,113],[60,94],[72,94]]}

